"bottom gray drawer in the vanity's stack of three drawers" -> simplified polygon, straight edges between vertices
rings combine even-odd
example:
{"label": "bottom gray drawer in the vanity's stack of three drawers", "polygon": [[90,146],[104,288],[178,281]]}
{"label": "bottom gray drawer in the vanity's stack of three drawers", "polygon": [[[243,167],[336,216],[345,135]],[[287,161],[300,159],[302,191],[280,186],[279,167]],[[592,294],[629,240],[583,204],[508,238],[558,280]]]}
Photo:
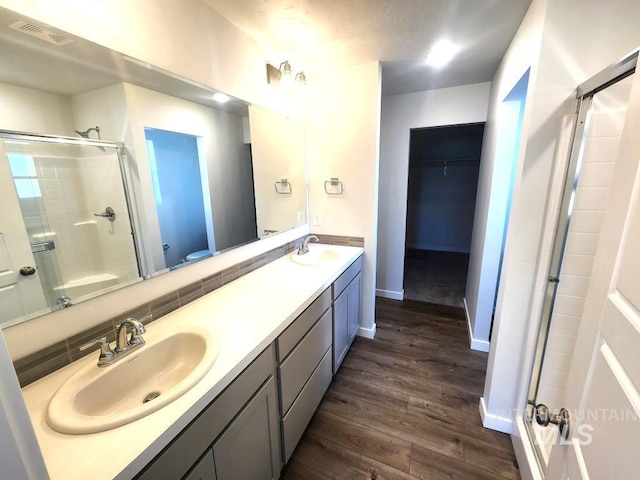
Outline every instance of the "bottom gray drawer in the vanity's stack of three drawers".
{"label": "bottom gray drawer in the vanity's stack of three drawers", "polygon": [[330,383],[331,349],[328,349],[291,409],[282,419],[285,463],[289,461]]}

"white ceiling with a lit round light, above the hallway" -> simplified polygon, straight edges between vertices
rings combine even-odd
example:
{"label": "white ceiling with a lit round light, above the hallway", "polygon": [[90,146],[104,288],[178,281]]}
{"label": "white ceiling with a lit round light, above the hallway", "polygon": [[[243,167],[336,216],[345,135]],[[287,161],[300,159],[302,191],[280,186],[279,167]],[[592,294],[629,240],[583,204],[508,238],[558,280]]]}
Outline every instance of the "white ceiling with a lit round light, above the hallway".
{"label": "white ceiling with a lit round light, above the hallway", "polygon": [[[294,71],[382,63],[385,95],[490,81],[531,0],[204,0]],[[444,68],[424,63],[446,38]],[[311,81],[311,79],[310,79]]]}

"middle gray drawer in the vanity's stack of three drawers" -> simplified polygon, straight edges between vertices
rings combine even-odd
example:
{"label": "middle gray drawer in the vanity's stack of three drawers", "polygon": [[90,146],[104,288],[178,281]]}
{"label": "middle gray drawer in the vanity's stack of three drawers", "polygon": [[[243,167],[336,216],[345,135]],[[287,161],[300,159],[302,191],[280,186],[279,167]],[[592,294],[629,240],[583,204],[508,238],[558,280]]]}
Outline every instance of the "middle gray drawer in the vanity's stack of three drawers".
{"label": "middle gray drawer in the vanity's stack of three drawers", "polygon": [[294,348],[291,355],[278,367],[283,415],[289,410],[322,356],[331,346],[331,330],[331,310],[327,310],[318,323]]}

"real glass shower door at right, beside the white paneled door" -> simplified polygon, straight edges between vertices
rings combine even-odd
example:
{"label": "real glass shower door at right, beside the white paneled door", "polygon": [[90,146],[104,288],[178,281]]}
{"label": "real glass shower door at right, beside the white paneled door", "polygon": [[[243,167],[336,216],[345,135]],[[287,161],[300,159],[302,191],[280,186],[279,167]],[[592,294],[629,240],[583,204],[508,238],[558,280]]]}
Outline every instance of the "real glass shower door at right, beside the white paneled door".
{"label": "real glass shower door at right, beside the white paneled door", "polygon": [[614,70],[579,98],[525,413],[542,471],[553,445],[568,432],[567,426],[545,428],[545,423],[561,425],[568,418],[570,426],[571,413],[563,411],[564,388],[608,205],[634,66],[635,62]]}

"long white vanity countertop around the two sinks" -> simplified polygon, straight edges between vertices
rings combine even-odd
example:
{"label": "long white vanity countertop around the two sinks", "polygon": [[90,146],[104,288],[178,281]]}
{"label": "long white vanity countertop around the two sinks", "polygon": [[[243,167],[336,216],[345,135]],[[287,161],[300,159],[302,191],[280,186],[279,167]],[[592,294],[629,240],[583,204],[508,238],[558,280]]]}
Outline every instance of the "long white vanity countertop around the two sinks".
{"label": "long white vanity countertop around the two sinks", "polygon": [[206,326],[220,341],[220,353],[191,390],[146,417],[84,435],[58,433],[47,425],[52,395],[86,362],[97,363],[97,352],[23,388],[50,477],[135,476],[363,253],[358,247],[313,244],[311,248],[334,250],[338,259],[305,266],[293,263],[287,254],[148,325],[149,331],[171,322]]}

